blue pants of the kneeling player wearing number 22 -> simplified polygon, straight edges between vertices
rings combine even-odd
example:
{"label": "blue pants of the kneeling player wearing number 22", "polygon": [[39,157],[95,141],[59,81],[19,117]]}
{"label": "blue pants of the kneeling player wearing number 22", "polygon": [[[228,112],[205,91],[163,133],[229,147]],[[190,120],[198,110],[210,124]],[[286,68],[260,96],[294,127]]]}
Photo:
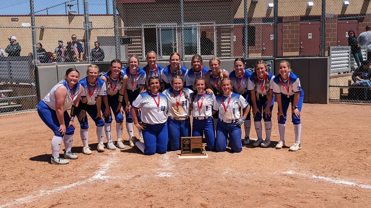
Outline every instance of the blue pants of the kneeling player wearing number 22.
{"label": "blue pants of the kneeling player wearing number 22", "polygon": [[169,148],[171,151],[177,151],[180,148],[180,137],[191,136],[191,121],[189,118],[183,121],[167,118],[167,129],[169,134]]}

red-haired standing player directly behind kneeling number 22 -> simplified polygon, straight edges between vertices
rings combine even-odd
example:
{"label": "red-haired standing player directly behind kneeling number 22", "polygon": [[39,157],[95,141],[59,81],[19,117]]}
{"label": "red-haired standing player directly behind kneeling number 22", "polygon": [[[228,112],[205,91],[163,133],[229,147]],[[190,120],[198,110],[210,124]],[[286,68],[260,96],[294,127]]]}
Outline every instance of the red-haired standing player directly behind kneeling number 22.
{"label": "red-haired standing player directly behind kneeling number 22", "polygon": [[180,55],[174,52],[170,55],[170,64],[161,72],[162,90],[171,88],[171,81],[175,76],[183,78],[187,73],[187,68],[180,64]]}

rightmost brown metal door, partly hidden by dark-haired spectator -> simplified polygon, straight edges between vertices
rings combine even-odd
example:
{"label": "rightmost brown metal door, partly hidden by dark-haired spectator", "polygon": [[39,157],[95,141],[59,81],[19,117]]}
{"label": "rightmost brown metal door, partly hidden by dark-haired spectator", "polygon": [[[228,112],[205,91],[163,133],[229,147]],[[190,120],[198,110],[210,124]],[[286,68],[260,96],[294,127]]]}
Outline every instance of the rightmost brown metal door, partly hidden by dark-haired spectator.
{"label": "rightmost brown metal door, partly hidden by dark-haired spectator", "polygon": [[338,21],[336,31],[336,46],[348,46],[348,31],[353,30],[358,37],[358,21]]}

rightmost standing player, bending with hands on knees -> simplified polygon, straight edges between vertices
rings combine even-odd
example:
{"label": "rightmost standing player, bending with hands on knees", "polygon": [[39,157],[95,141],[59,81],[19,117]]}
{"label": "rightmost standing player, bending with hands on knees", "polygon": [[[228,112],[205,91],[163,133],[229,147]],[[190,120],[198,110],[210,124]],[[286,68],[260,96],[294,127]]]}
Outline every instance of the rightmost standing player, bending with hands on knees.
{"label": "rightmost standing player, bending with hands on knees", "polygon": [[300,150],[301,122],[300,112],[303,106],[304,92],[301,88],[298,76],[291,72],[290,63],[282,60],[278,63],[279,75],[273,79],[273,93],[277,96],[278,105],[278,131],[280,141],[276,149],[285,145],[286,113],[291,103],[291,118],[294,124],[295,143],[289,148],[290,151]]}

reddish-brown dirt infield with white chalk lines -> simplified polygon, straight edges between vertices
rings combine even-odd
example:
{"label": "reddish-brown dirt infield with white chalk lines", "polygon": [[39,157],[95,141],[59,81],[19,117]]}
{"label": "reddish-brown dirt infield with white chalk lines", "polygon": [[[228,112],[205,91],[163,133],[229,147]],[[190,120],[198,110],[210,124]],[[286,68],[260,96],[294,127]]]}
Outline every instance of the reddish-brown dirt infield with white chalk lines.
{"label": "reddish-brown dirt infield with white chalk lines", "polygon": [[95,128],[93,154],[83,155],[78,128],[78,160],[51,165],[52,131],[37,112],[1,117],[0,208],[364,207],[371,202],[370,118],[370,105],[304,104],[302,150],[274,148],[274,117],[269,148],[248,145],[204,159],[179,159],[179,151],[145,156],[130,147],[98,153]]}

